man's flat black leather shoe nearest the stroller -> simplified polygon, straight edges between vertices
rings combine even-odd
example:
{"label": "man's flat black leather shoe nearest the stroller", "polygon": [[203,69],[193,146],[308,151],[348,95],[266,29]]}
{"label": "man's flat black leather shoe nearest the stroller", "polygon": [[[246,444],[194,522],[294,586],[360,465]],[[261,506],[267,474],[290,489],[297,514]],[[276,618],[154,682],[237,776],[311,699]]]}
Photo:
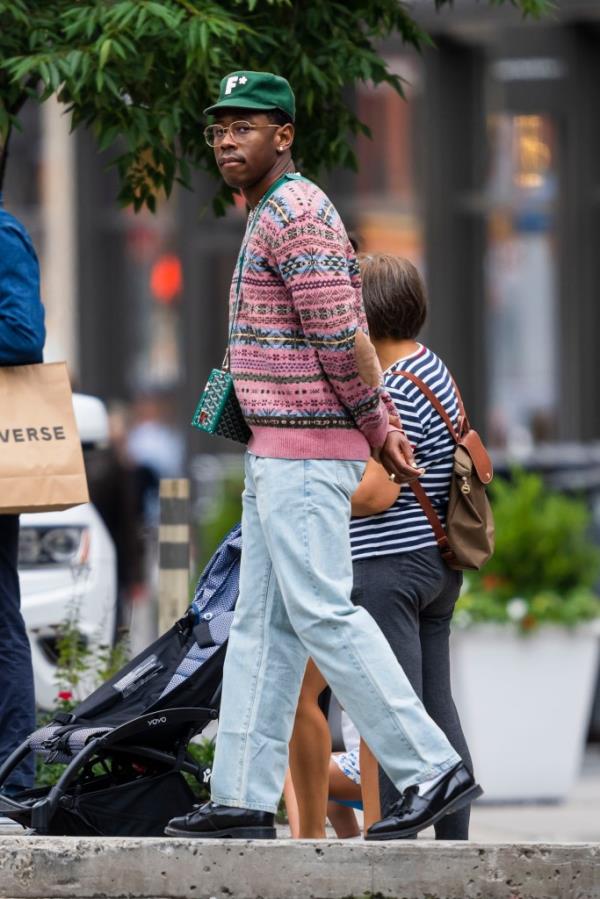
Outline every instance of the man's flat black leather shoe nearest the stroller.
{"label": "man's flat black leather shoe nearest the stroller", "polygon": [[165,833],[169,837],[200,837],[204,840],[274,840],[277,836],[274,821],[272,812],[205,802],[182,818],[171,818]]}

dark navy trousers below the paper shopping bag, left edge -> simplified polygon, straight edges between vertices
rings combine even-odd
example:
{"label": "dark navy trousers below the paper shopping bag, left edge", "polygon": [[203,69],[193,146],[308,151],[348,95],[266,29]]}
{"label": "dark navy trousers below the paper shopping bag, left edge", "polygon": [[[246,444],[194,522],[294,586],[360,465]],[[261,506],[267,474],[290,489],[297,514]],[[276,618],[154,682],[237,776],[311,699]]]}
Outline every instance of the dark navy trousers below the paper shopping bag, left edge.
{"label": "dark navy trousers below the paper shopping bag, left edge", "polygon": [[[21,615],[17,572],[19,518],[0,515],[0,764],[35,730],[31,648]],[[31,756],[3,789],[33,785]]]}

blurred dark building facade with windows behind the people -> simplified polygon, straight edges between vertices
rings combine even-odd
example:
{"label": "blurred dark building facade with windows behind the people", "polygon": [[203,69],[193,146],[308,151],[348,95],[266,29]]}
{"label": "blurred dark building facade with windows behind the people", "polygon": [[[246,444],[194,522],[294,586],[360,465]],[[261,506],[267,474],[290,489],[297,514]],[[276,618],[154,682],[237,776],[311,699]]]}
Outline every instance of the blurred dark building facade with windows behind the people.
{"label": "blurred dark building facade with windows behind the people", "polygon": [[[433,6],[414,10],[435,48],[384,46],[405,99],[356,92],[373,140],[356,143],[358,174],[324,186],[363,251],[425,274],[424,339],[500,466],[583,488],[600,534],[600,3],[560,0],[541,23],[475,0]],[[126,404],[130,453],[157,476],[191,472],[198,516],[219,501],[235,517],[235,447],[188,423],[223,354],[242,205],[215,222],[197,176],[155,216],[119,210],[107,160],[54,103],[25,108],[23,124],[5,200],[40,254],[47,360]]]}

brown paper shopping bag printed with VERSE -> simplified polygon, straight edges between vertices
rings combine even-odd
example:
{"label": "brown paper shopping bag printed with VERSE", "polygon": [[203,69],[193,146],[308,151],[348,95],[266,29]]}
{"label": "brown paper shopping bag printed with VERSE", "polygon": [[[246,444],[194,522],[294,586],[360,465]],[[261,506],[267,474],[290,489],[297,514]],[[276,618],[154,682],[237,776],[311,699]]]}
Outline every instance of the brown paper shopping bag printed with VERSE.
{"label": "brown paper shopping bag printed with VERSE", "polygon": [[0,367],[0,514],[87,502],[66,364]]}

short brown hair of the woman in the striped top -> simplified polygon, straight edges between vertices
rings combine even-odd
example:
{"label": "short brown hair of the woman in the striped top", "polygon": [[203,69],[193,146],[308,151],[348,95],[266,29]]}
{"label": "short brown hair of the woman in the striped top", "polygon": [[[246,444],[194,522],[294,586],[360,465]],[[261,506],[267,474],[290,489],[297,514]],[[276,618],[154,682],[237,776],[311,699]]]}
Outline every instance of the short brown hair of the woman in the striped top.
{"label": "short brown hair of the woman in the striped top", "polygon": [[359,262],[371,337],[414,340],[427,318],[425,285],[415,266],[385,253],[360,256]]}

